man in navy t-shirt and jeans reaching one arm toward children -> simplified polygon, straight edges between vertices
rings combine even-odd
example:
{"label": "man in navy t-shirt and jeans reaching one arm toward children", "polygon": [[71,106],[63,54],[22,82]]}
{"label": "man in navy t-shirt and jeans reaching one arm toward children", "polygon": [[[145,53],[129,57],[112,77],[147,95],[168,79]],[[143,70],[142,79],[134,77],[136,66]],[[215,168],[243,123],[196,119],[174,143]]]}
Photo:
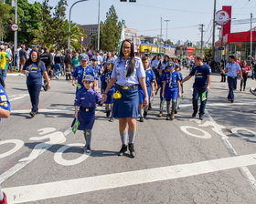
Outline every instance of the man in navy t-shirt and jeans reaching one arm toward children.
{"label": "man in navy t-shirt and jeans reaching one arm toward children", "polygon": [[209,85],[211,82],[211,69],[208,65],[203,63],[203,58],[201,56],[195,56],[195,64],[196,66],[193,67],[190,74],[186,76],[181,83],[183,84],[192,76],[195,76],[195,83],[193,85],[193,114],[192,117],[197,116],[198,110],[198,98],[200,97],[200,109],[199,109],[199,119],[203,120],[205,114],[205,108],[207,105],[208,99],[208,91]]}

